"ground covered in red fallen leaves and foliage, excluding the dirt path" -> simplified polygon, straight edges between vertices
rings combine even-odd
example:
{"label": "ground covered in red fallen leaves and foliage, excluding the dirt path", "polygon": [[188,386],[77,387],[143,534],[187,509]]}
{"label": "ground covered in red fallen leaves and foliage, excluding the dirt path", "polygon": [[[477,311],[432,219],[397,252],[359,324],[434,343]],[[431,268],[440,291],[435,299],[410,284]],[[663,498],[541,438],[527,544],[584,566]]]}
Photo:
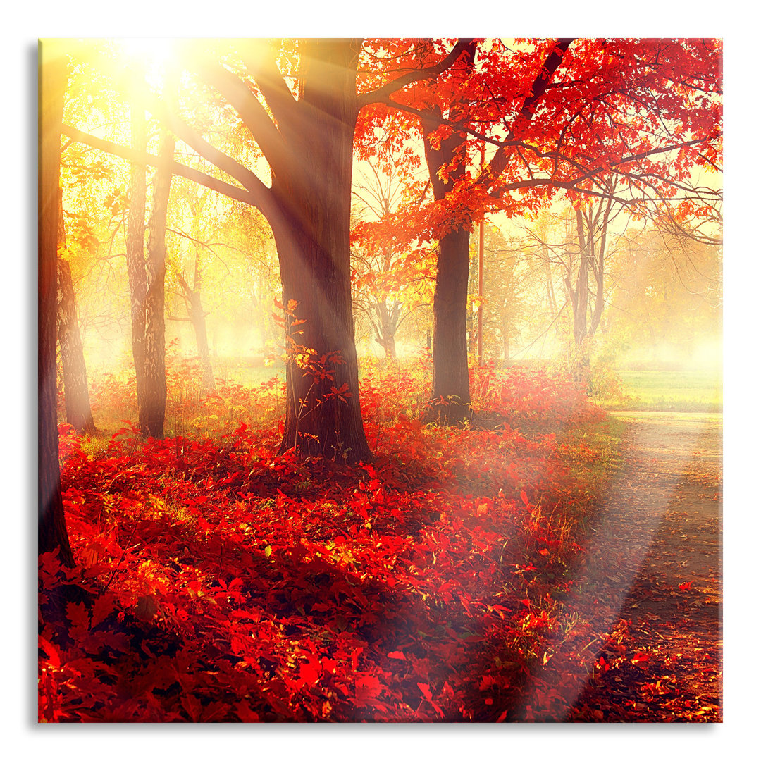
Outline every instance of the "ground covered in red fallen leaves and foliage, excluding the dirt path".
{"label": "ground covered in red fallen leaves and foliage, excluding the dirt path", "polygon": [[620,424],[568,380],[488,368],[472,425],[425,426],[416,372],[365,378],[361,466],[275,456],[276,417],[225,432],[276,415],[272,383],[221,388],[161,441],[62,427],[78,565],[40,557],[40,721],[551,713],[537,673],[605,644],[568,600]]}

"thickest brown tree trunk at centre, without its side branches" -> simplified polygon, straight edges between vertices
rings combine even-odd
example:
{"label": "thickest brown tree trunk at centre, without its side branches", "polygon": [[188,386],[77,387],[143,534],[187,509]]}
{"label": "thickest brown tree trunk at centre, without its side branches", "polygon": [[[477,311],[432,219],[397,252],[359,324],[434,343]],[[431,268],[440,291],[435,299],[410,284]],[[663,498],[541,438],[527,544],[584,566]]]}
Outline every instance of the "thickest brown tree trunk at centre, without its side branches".
{"label": "thickest brown tree trunk at centre, without its side branches", "polygon": [[272,179],[279,213],[270,224],[292,313],[280,451],[368,461],[349,255],[358,46],[309,40],[303,47],[298,118],[279,125],[291,171]]}

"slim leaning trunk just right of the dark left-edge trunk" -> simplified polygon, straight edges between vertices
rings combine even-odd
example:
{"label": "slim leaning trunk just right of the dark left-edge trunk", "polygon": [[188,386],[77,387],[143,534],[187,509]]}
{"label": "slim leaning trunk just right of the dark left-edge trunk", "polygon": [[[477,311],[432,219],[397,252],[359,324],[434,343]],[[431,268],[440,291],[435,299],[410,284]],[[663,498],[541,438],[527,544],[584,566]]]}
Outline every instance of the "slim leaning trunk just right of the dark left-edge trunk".
{"label": "slim leaning trunk just right of the dark left-edge trunk", "polygon": [[72,269],[63,259],[58,260],[58,340],[63,365],[66,422],[73,425],[77,433],[95,433],[88,391],[88,371],[84,365],[77,322]]}

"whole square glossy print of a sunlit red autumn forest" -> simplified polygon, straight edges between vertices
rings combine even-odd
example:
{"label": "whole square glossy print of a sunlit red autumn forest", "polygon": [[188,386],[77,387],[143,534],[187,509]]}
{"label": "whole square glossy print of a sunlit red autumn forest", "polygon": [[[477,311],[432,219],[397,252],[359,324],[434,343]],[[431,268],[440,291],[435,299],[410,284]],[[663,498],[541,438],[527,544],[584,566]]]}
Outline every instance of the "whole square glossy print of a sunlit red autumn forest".
{"label": "whole square glossy print of a sunlit red autumn forest", "polygon": [[724,721],[722,56],[40,40],[37,721]]}

